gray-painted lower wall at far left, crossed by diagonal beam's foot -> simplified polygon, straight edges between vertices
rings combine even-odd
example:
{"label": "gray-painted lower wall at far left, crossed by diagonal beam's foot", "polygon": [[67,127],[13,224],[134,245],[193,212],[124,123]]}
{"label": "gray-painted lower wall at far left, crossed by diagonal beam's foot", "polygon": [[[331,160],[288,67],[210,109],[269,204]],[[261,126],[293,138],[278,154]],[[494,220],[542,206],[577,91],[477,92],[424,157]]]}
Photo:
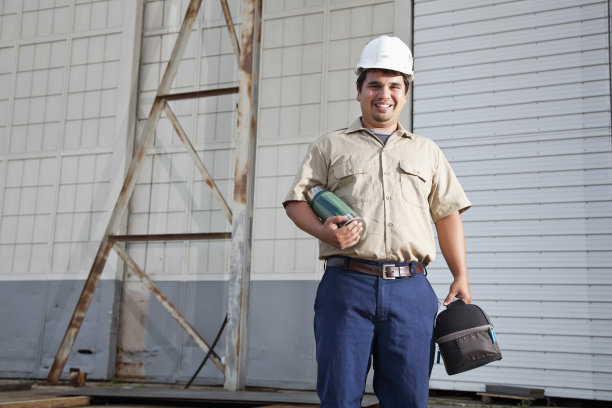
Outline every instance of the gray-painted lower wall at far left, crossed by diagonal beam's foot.
{"label": "gray-painted lower wall at far left, crossed by diagonal beam's foot", "polygon": [[[0,285],[0,372],[9,378],[46,378],[83,288],[83,281],[6,281]],[[111,337],[116,282],[101,281],[66,362],[91,379],[112,375]],[[41,330],[43,321],[44,330]]]}

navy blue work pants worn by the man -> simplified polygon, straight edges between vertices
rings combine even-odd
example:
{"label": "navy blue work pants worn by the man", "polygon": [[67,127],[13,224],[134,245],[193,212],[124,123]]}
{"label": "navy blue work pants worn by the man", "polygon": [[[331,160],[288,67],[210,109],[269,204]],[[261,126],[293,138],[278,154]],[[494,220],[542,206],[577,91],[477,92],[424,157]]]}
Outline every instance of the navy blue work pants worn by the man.
{"label": "navy blue work pants worn by the man", "polygon": [[384,280],[328,267],[315,299],[322,408],[358,408],[370,365],[381,408],[425,408],[438,300],[427,277]]}

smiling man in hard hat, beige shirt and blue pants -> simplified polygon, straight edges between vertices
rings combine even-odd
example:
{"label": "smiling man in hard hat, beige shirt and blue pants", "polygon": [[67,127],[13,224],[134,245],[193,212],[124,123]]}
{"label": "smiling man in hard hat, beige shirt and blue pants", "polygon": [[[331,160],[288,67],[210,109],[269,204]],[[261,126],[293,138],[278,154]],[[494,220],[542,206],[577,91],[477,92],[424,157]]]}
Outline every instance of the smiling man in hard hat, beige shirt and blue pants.
{"label": "smiling man in hard hat, beige shirt and blue pants", "polygon": [[[425,266],[436,254],[430,217],[453,274],[444,304],[471,302],[460,213],[470,207],[448,161],[398,122],[413,80],[397,37],[368,43],[357,67],[362,116],[310,147],[283,205],[320,241],[326,270],[315,299],[321,407],[359,407],[373,357],[384,408],[426,407],[438,300]],[[308,201],[323,186],[365,221],[319,220]]]}

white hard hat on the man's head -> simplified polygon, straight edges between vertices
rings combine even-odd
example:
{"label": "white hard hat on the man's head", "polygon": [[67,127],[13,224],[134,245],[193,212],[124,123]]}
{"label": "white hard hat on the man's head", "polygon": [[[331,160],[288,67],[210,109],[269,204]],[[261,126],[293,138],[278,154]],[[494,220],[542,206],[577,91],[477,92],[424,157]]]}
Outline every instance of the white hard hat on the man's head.
{"label": "white hard hat on the man's head", "polygon": [[412,70],[412,52],[402,40],[387,35],[370,41],[363,47],[357,64],[357,73],[370,68],[389,69],[408,75],[408,81],[414,79]]}

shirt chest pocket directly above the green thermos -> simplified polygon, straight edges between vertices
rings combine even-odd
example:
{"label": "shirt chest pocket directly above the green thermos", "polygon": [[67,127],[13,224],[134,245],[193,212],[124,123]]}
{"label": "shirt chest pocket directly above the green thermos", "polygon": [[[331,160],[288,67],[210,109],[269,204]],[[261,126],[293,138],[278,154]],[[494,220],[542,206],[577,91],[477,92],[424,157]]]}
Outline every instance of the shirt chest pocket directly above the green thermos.
{"label": "shirt chest pocket directly above the green thermos", "polygon": [[372,199],[378,170],[375,163],[365,160],[342,160],[334,164],[330,187],[347,204],[361,203]]}

